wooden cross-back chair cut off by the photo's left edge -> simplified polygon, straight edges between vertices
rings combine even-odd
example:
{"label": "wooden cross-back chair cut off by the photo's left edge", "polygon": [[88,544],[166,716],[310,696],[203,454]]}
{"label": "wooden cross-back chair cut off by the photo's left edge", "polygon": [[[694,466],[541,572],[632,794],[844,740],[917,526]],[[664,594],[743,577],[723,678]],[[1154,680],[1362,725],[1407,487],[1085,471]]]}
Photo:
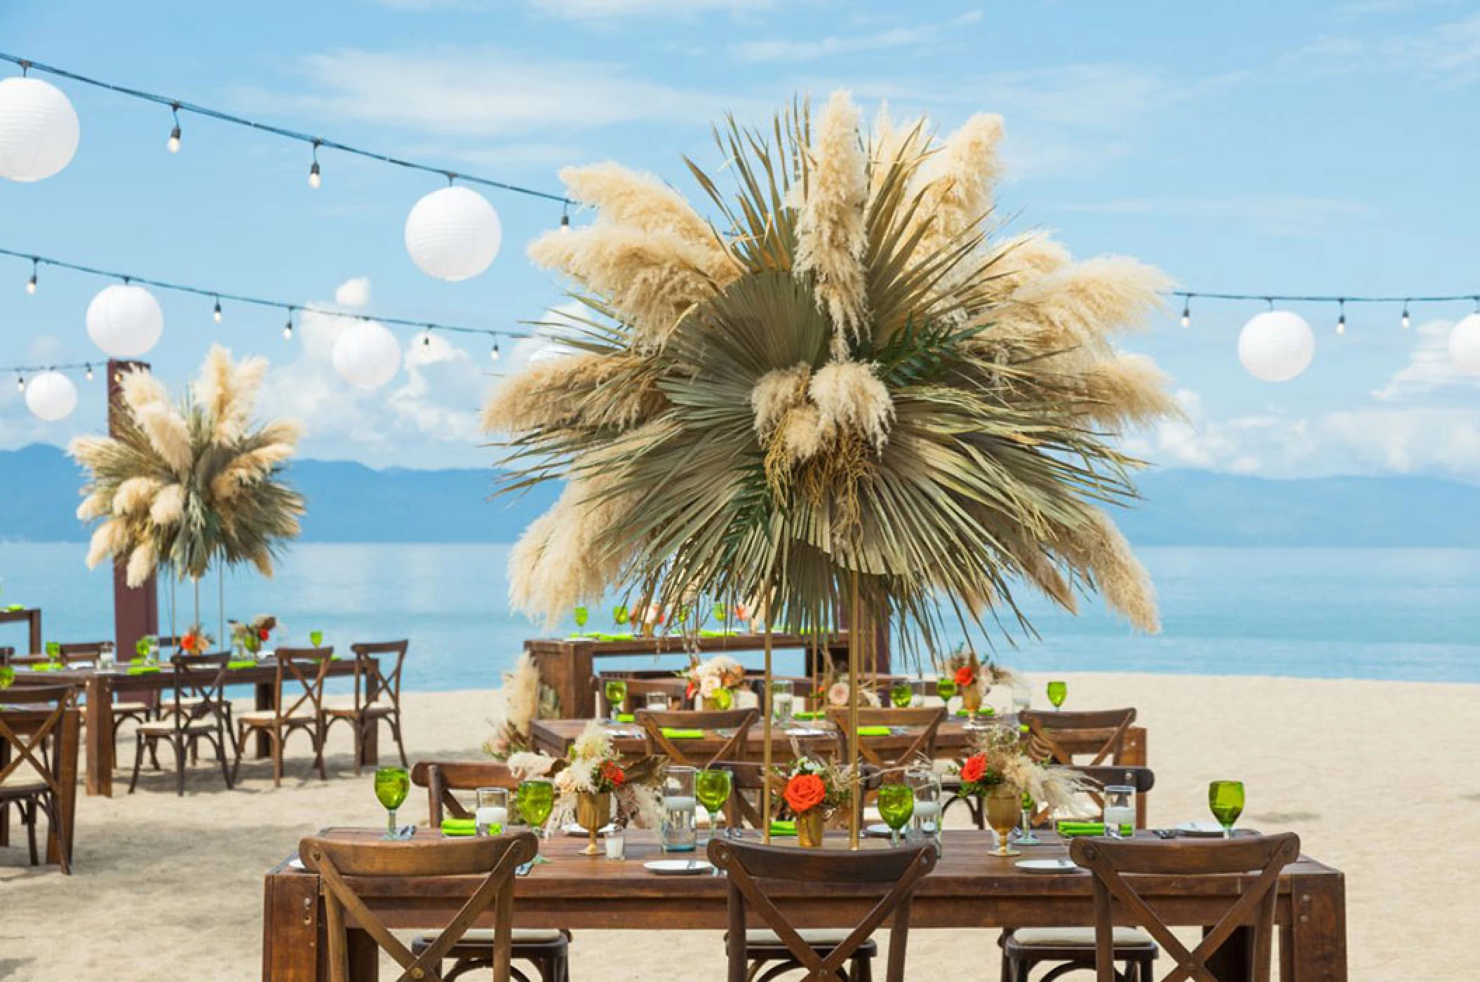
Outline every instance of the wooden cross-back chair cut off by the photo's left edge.
{"label": "wooden cross-back chair cut off by the photo's left edge", "polygon": [[6,689],[6,704],[41,714],[40,722],[16,732],[0,713],[0,745],[7,748],[9,756],[6,765],[0,768],[0,822],[9,827],[10,806],[15,805],[27,830],[34,867],[40,864],[36,827],[44,815],[49,844],[62,873],[73,871],[71,856],[67,852],[71,836],[61,824],[62,785],[52,744],[61,738],[62,719],[74,700],[75,694],[67,685],[15,686]]}

